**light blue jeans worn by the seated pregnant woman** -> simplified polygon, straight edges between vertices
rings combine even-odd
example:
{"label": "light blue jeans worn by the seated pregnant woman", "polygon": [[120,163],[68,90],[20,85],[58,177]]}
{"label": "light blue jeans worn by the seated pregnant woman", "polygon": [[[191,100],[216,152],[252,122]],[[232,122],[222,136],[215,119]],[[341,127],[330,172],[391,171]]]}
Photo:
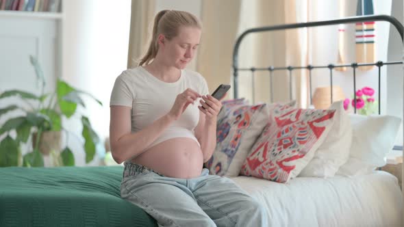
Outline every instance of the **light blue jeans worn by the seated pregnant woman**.
{"label": "light blue jeans worn by the seated pregnant woman", "polygon": [[195,178],[172,178],[125,163],[121,197],[140,206],[159,226],[268,226],[268,213],[229,178],[203,169]]}

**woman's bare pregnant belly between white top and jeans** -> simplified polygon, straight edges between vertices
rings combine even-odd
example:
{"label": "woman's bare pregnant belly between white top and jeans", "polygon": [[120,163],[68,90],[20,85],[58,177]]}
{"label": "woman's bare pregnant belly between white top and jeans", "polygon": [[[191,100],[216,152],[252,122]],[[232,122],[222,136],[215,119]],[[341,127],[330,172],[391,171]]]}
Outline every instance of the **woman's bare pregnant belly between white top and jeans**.
{"label": "woman's bare pregnant belly between white top and jeans", "polygon": [[194,139],[179,137],[152,146],[136,159],[132,159],[132,162],[164,176],[194,178],[201,175],[203,154]]}

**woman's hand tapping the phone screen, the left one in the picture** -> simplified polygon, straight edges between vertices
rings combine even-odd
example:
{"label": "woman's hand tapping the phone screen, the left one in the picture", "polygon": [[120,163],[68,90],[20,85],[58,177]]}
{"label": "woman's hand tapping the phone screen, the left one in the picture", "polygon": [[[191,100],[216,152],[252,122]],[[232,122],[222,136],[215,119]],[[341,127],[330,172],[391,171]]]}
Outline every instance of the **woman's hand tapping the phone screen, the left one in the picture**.
{"label": "woman's hand tapping the phone screen, the left one in the picture", "polygon": [[188,105],[191,103],[194,104],[194,101],[197,98],[200,98],[201,95],[198,92],[188,88],[184,92],[177,95],[175,98],[175,102],[173,107],[171,107],[170,112],[168,112],[168,116],[170,116],[173,120],[178,120],[182,113],[186,110]]}

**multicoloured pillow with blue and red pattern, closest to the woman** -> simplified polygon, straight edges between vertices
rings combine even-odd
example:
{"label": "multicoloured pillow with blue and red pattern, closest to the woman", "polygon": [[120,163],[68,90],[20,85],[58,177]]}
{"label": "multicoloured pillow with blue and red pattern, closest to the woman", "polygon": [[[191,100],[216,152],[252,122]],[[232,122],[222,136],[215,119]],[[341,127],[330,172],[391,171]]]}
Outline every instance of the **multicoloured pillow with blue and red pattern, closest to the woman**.
{"label": "multicoloured pillow with blue and red pattern, closest to the woman", "polygon": [[268,107],[234,105],[218,118],[216,148],[205,167],[219,176],[238,176],[242,162],[268,122]]}

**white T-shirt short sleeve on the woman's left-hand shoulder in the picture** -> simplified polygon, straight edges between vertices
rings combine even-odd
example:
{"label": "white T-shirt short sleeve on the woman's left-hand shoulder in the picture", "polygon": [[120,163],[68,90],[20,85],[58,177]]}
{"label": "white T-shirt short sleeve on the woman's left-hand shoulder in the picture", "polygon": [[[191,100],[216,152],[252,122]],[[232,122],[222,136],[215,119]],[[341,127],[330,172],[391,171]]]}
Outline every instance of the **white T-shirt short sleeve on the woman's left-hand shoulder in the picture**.
{"label": "white T-shirt short sleeve on the woman's left-hand shoulder in the picture", "polygon": [[125,82],[123,75],[116,77],[114,88],[112,88],[110,106],[123,105],[126,107],[132,107],[133,95],[127,82]]}

